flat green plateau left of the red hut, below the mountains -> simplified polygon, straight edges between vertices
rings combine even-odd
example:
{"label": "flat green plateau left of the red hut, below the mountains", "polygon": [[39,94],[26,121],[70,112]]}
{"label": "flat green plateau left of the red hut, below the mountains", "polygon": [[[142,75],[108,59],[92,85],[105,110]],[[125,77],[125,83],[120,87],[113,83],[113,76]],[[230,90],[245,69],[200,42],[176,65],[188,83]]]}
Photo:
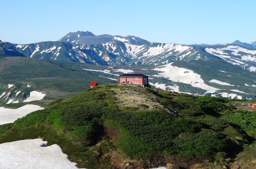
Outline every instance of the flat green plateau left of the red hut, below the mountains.
{"label": "flat green plateau left of the red hut, below the mountains", "polygon": [[[14,84],[14,88],[6,91],[7,93],[21,90],[24,91],[23,93],[29,93],[37,90],[46,94],[44,99],[58,99],[81,93],[90,88],[91,81],[98,81],[98,84],[115,82],[90,72],[82,72],[82,68],[91,69],[93,66],[95,65],[67,61],[2,57],[0,90],[3,93],[6,91],[7,84]],[[32,87],[28,88],[27,84]]]}

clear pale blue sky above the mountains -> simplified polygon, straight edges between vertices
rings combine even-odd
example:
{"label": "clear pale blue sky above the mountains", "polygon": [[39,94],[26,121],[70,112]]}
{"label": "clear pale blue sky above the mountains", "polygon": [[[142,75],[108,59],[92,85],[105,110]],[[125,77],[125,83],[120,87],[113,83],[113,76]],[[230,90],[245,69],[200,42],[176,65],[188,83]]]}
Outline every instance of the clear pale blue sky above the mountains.
{"label": "clear pale blue sky above the mountains", "polygon": [[56,41],[69,32],[149,42],[256,41],[256,0],[0,0],[0,39]]}

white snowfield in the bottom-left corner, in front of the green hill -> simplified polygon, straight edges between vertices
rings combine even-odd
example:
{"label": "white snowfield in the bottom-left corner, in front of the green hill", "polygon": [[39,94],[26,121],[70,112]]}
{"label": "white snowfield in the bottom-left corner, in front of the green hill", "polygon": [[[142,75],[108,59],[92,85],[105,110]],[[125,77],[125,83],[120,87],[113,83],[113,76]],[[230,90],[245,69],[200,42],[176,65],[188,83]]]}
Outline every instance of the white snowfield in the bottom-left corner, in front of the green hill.
{"label": "white snowfield in the bottom-left corner, in front of the green hill", "polygon": [[10,169],[77,169],[57,145],[41,147],[47,141],[29,139],[0,144],[0,166]]}

